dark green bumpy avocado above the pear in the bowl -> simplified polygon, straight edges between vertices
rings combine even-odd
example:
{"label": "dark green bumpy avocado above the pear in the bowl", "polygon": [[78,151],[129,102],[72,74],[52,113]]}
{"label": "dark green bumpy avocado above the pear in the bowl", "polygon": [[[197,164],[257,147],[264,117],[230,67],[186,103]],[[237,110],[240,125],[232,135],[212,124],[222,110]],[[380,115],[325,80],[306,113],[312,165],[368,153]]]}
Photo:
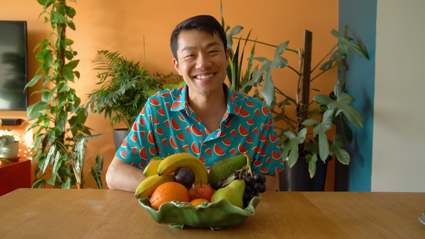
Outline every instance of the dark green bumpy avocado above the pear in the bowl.
{"label": "dark green bumpy avocado above the pear in the bowl", "polygon": [[222,159],[213,164],[208,174],[208,182],[214,190],[220,188],[218,186],[219,181],[226,180],[235,171],[242,169],[247,165],[247,156],[245,154],[239,154],[231,158]]}

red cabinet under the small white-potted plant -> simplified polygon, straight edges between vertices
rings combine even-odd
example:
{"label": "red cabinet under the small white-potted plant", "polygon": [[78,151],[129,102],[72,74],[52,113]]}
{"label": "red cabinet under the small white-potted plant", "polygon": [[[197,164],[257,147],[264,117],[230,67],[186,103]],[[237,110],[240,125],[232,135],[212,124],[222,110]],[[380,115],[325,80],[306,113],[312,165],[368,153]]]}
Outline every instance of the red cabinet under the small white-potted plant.
{"label": "red cabinet under the small white-potted plant", "polygon": [[0,196],[18,188],[31,188],[31,160],[0,163]]}

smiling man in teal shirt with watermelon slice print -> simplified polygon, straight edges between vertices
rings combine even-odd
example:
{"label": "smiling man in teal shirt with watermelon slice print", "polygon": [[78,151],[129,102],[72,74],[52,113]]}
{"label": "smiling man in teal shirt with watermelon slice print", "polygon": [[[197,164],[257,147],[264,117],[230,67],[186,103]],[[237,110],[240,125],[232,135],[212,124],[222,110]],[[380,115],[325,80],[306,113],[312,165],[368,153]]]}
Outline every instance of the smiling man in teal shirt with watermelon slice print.
{"label": "smiling man in teal shirt with watermelon slice print", "polygon": [[267,174],[267,190],[275,191],[283,162],[274,122],[261,101],[224,84],[229,49],[221,25],[212,16],[189,18],[177,25],[170,45],[186,84],[148,99],[109,165],[108,187],[134,192],[154,156],[188,152],[209,169],[248,153],[252,170]]}

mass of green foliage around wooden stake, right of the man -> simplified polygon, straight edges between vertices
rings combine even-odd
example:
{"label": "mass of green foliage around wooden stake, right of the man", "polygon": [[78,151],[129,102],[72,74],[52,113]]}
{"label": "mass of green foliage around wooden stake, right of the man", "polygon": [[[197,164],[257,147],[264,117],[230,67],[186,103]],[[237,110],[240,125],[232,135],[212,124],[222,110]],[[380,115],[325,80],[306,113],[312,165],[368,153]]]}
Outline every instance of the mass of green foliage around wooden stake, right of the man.
{"label": "mass of green foliage around wooden stake, right of the man", "polygon": [[[335,30],[331,31],[331,34],[338,39],[338,42],[314,68],[305,72],[303,71],[305,67],[311,65],[310,58],[306,57],[307,51],[287,48],[289,41],[284,41],[279,45],[272,45],[256,39],[250,39],[250,31],[246,37],[236,37],[235,35],[242,32],[243,27],[236,26],[231,28],[226,26],[223,19],[222,6],[221,21],[228,40],[227,47],[230,49],[230,62],[227,68],[230,87],[246,94],[253,88],[253,96],[261,99],[270,107],[275,122],[284,122],[283,125],[285,127],[277,127],[277,130],[280,137],[282,157],[283,159],[288,159],[289,167],[293,167],[299,157],[305,157],[309,164],[310,177],[313,178],[316,174],[316,162],[319,159],[325,162],[329,156],[335,155],[339,162],[348,165],[350,155],[343,149],[343,137],[351,143],[352,131],[348,122],[362,128],[363,118],[361,113],[350,105],[354,98],[344,92],[344,77],[343,79],[335,80],[334,89],[328,95],[310,97],[311,90],[318,91],[317,89],[310,89],[312,81],[334,81],[334,79],[322,76],[325,71],[332,68],[338,68],[342,71],[348,70],[345,58],[352,54],[352,50],[366,59],[369,58],[366,50],[355,44],[353,38],[347,36],[347,27],[343,35],[340,35]],[[237,40],[235,48],[233,48],[233,40]],[[250,50],[245,49],[248,42],[253,42]],[[272,60],[265,57],[255,57],[256,44],[275,48]],[[248,57],[244,57],[246,51],[249,53]],[[286,52],[298,55],[299,61],[295,66],[289,64],[286,58],[282,56]],[[242,63],[244,61],[247,62],[243,71]],[[261,67],[253,67],[254,63],[258,62]],[[296,89],[289,91],[295,92],[295,95],[288,94],[286,93],[287,91],[275,86],[272,70],[276,68],[286,68],[296,73],[298,77],[295,79],[278,79],[279,81],[296,81]],[[261,95],[258,92],[258,86],[261,87]],[[302,96],[307,96],[305,101],[302,101]],[[283,100],[278,101],[278,99]],[[289,107],[295,109],[294,115],[287,114],[286,109],[289,109]],[[334,133],[333,137],[328,137],[327,134],[332,132],[337,121],[342,122],[344,135],[341,136]]]}

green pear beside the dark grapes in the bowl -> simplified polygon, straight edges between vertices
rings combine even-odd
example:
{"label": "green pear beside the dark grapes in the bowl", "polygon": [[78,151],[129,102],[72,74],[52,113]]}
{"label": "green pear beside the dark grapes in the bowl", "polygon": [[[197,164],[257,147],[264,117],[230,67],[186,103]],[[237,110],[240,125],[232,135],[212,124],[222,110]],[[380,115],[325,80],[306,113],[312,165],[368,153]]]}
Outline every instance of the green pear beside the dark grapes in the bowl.
{"label": "green pear beside the dark grapes in the bowl", "polygon": [[235,179],[227,186],[217,189],[210,202],[227,199],[232,205],[244,207],[245,182],[243,179]]}

